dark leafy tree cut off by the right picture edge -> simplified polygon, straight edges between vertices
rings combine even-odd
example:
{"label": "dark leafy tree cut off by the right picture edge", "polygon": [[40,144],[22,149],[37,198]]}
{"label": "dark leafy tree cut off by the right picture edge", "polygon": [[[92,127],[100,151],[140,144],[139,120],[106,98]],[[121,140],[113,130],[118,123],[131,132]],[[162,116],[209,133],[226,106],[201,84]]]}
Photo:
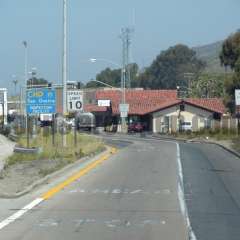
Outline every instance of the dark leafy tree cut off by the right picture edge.
{"label": "dark leafy tree cut off by the right picture edge", "polygon": [[225,103],[229,110],[235,112],[235,89],[240,89],[240,32],[237,31],[234,35],[228,37],[222,46],[220,53],[221,64],[226,68],[230,67],[233,70],[231,77],[225,81],[226,97]]}

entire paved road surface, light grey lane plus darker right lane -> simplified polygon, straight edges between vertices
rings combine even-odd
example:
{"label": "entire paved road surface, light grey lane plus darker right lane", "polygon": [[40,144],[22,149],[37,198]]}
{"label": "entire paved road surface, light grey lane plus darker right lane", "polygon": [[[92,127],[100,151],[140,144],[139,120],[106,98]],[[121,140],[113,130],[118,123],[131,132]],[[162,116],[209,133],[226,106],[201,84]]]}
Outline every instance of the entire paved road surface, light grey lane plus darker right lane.
{"label": "entire paved road surface, light grey lane plus darker right lane", "polygon": [[[120,151],[0,230],[0,239],[188,239],[180,210],[176,144],[131,136],[105,141]],[[181,143],[180,155],[197,240],[239,240],[240,160],[207,144]],[[39,192],[0,199],[0,221]]]}

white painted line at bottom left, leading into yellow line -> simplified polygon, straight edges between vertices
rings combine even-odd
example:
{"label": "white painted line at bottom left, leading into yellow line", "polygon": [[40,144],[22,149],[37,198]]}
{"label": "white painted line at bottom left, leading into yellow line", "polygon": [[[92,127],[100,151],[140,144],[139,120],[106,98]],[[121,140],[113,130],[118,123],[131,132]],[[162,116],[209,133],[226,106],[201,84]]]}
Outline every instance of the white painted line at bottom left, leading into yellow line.
{"label": "white painted line at bottom left, leading into yellow line", "polygon": [[9,225],[10,223],[16,221],[20,217],[22,217],[26,212],[31,210],[32,208],[36,207],[39,203],[41,203],[44,199],[43,198],[37,198],[34,201],[32,201],[30,204],[26,205],[7,219],[0,222],[0,230]]}

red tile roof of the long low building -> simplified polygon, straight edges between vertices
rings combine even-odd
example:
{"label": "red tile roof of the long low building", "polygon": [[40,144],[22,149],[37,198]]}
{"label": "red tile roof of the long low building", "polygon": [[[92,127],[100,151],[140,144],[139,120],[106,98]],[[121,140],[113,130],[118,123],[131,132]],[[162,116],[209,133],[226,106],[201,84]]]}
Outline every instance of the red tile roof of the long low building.
{"label": "red tile roof of the long low building", "polygon": [[[119,115],[119,104],[122,93],[120,90],[98,90],[97,100],[110,100],[112,113]],[[209,111],[223,114],[225,106],[218,98],[187,98],[181,100],[177,97],[177,90],[128,90],[126,91],[126,103],[129,104],[129,114],[145,115],[161,110],[172,105],[180,104],[182,101],[201,107]]]}

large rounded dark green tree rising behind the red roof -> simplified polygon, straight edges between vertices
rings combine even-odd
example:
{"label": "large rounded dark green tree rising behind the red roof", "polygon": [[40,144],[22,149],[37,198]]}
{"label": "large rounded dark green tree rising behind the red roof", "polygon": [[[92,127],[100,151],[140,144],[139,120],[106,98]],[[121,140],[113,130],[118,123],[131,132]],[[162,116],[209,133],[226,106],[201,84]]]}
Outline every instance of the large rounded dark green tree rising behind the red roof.
{"label": "large rounded dark green tree rising behind the red roof", "polygon": [[198,75],[205,63],[198,60],[195,51],[185,45],[176,45],[157,56],[138,79],[138,85],[150,89],[187,87],[184,73]]}

